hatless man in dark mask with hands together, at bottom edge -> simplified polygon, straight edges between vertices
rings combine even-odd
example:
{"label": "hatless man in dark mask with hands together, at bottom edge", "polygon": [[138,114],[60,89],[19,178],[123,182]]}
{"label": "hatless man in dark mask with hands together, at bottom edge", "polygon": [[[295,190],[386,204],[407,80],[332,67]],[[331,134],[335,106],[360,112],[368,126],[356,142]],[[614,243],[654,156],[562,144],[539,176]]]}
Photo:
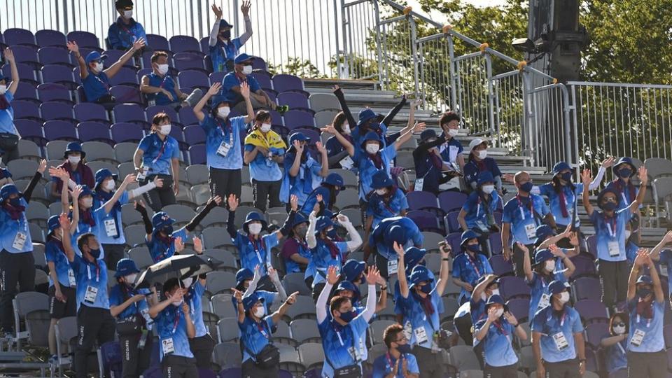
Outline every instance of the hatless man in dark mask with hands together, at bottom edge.
{"label": "hatless man in dark mask with hands together, at bottom edge", "polygon": [[389,325],[383,331],[387,353],[373,361],[373,378],[418,378],[418,361],[411,353],[411,346],[399,324]]}

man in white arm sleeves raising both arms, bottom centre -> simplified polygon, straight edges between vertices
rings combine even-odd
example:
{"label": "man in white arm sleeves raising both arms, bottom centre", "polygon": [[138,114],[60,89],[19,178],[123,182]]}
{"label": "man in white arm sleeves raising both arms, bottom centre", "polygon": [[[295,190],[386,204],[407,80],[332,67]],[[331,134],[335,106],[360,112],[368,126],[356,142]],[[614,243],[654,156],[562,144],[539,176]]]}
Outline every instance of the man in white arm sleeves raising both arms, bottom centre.
{"label": "man in white arm sleeves raising both arms, bottom centre", "polygon": [[317,327],[322,337],[325,358],[322,377],[363,376],[362,363],[367,359],[365,339],[369,321],[375,311],[378,277],[378,270],[369,267],[366,274],[366,308],[356,314],[349,298],[335,296],[329,300],[329,294],[338,282],[339,274],[338,267],[331,266],[327,270],[324,288],[315,304]]}

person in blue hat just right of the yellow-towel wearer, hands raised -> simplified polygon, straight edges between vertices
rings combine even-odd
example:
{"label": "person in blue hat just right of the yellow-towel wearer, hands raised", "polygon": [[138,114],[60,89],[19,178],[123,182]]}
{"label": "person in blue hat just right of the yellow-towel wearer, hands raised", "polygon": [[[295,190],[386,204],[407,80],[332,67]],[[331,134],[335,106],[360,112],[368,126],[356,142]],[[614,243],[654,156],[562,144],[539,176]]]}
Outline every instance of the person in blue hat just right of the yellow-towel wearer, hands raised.
{"label": "person in blue hat just right of the yellow-towel wearer, hands raised", "polygon": [[289,149],[284,161],[285,173],[280,188],[282,202],[288,203],[290,195],[296,195],[298,204],[302,207],[313,190],[320,186],[322,178],[329,173],[327,150],[320,142],[315,144],[322,160],[317,162],[308,151],[309,141],[301,132],[289,136]]}

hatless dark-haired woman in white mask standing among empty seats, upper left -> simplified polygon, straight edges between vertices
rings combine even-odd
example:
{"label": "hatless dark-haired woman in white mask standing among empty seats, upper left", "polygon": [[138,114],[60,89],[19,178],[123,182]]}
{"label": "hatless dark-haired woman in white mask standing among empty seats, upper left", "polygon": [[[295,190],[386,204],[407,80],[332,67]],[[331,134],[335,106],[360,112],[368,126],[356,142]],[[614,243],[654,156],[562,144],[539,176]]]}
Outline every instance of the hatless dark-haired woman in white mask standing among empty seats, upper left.
{"label": "hatless dark-haired woman in white mask standing among empty seats, upper left", "polygon": [[144,198],[154,211],[169,204],[176,204],[175,196],[180,193],[180,148],[177,140],[171,137],[172,124],[166,113],[157,113],[152,118],[151,133],[138,145],[133,164],[141,186],[159,178],[163,186],[145,193]]}

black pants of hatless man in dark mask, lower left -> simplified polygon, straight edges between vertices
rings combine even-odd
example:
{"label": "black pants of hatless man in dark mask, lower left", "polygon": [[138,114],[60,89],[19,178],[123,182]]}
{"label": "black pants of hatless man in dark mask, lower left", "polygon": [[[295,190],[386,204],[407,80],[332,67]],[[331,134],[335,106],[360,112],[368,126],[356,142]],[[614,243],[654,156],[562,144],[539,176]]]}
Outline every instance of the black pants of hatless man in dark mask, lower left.
{"label": "black pants of hatless man in dark mask, lower left", "polygon": [[116,321],[109,309],[88,307],[82,304],[77,313],[77,346],[75,349],[76,377],[88,376],[87,359],[93,344],[111,342],[116,331]]}

